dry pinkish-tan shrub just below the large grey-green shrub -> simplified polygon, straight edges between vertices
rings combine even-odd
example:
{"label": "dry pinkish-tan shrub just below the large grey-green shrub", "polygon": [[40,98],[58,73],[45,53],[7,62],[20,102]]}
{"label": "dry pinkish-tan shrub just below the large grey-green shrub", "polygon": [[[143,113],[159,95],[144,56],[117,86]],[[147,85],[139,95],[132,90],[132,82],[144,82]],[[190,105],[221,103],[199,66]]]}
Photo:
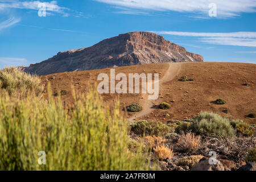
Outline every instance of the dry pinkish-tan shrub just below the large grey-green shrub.
{"label": "dry pinkish-tan shrub just below the large grey-green shrub", "polygon": [[182,134],[177,142],[177,147],[184,152],[193,152],[200,147],[201,137],[194,133]]}

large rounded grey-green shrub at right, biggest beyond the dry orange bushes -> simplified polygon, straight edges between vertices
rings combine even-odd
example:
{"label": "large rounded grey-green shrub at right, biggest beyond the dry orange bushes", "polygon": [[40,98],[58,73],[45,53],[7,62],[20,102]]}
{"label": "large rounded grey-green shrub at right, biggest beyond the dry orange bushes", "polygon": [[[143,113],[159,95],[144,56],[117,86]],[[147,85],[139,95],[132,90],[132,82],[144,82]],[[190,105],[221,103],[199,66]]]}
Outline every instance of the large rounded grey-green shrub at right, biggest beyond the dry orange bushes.
{"label": "large rounded grey-green shrub at right, biggest beyond the dry orange bushes", "polygon": [[215,113],[201,112],[193,118],[189,129],[196,134],[209,136],[234,137],[235,135],[235,131],[230,125],[230,120]]}

